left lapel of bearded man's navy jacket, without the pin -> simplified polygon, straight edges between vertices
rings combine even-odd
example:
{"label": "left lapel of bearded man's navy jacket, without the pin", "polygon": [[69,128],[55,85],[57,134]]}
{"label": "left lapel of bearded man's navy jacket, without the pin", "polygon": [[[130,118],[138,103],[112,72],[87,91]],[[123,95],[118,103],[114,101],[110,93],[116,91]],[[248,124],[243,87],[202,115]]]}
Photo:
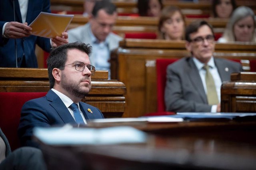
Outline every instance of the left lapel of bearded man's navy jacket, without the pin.
{"label": "left lapel of bearded man's navy jacket, without the pin", "polygon": [[76,121],[68,111],[68,108],[57,94],[55,94],[52,90],[49,90],[49,92],[46,94],[46,98],[47,100],[51,101],[50,105],[57,111],[64,123],[76,124]]}

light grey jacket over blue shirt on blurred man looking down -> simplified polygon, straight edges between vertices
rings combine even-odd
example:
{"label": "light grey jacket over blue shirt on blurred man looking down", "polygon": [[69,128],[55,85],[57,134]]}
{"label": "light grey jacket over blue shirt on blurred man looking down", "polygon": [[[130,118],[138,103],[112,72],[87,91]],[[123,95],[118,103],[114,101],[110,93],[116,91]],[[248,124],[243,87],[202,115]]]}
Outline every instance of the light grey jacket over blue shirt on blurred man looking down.
{"label": "light grey jacket over blue shirt on blurred man looking down", "polygon": [[[73,29],[70,29],[68,31],[68,42],[74,43],[76,41],[83,42],[86,44],[90,44],[92,46],[92,55],[90,57],[90,63],[92,65],[94,64],[94,59],[95,59],[95,53],[93,51],[93,42],[90,36],[90,23],[86,23],[85,25],[82,25],[80,27],[76,27]],[[119,46],[119,41],[122,40],[122,37],[114,34],[114,33],[109,33],[108,37],[106,38],[108,41],[108,47],[109,51],[112,51],[113,49],[118,48]]]}

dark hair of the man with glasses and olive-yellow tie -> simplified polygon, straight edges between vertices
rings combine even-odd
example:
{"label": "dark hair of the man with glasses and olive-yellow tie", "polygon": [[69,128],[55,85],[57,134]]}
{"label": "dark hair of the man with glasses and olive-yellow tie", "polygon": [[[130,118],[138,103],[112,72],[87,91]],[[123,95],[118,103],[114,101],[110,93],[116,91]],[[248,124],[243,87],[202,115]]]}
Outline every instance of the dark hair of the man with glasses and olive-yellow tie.
{"label": "dark hair of the man with glasses and olive-yellow tie", "polygon": [[208,22],[206,22],[206,21],[204,21],[204,20],[197,20],[197,21],[194,21],[194,22],[190,23],[190,24],[186,27],[186,33],[185,33],[185,39],[186,39],[186,41],[191,42],[190,34],[197,32],[198,29],[199,29],[200,27],[202,27],[203,25],[207,25],[207,26],[211,29],[212,35],[214,36],[214,31],[213,31],[212,25],[210,25]]}

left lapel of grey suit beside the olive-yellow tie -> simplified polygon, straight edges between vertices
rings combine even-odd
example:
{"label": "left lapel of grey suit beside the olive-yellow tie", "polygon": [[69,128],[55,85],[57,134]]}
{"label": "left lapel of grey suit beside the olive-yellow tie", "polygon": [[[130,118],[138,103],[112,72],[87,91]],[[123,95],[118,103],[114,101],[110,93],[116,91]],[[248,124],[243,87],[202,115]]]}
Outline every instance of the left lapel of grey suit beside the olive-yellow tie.
{"label": "left lapel of grey suit beside the olive-yellow tie", "polygon": [[198,92],[204,103],[207,103],[206,94],[204,92],[204,85],[202,83],[198,69],[196,68],[194,61],[192,60],[192,57],[189,58],[188,65],[188,76],[190,78],[190,81],[192,82],[192,85],[195,87],[196,91]]}

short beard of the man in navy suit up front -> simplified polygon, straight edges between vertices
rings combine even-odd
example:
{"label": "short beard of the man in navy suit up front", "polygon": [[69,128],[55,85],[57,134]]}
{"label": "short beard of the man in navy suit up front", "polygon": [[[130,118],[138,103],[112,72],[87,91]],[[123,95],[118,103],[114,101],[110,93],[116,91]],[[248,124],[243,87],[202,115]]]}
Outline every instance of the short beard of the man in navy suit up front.
{"label": "short beard of the man in navy suit up front", "polygon": [[80,88],[80,82],[84,80],[88,80],[89,78],[86,76],[82,78],[79,82],[74,82],[74,80],[67,80],[66,75],[62,74],[62,81],[60,82],[62,88],[64,88],[68,93],[75,96],[76,98],[84,98],[87,94],[89,94],[91,90],[91,84],[86,84],[86,87],[90,87],[89,90],[82,90]]}

